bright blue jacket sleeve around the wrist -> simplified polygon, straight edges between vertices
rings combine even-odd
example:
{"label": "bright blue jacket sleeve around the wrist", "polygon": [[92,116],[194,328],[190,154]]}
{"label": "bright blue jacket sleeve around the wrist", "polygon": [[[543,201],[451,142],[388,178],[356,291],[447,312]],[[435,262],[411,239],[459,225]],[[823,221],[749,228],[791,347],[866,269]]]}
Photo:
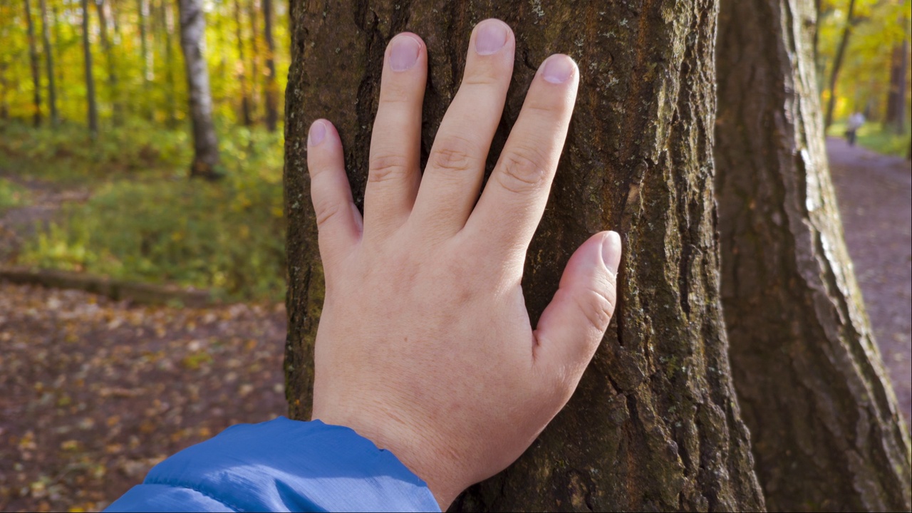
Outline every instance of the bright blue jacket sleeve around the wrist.
{"label": "bright blue jacket sleeve around the wrist", "polygon": [[106,511],[440,511],[427,485],[347,427],[238,424],[154,466]]}

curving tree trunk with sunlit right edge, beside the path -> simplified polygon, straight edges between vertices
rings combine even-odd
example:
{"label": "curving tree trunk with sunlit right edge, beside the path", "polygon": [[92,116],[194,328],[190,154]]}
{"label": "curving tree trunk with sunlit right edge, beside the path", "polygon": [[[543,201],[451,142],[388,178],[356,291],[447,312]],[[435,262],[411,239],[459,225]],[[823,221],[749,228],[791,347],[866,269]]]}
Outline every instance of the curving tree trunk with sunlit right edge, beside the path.
{"label": "curving tree trunk with sunlit right edge, beside the path", "polygon": [[814,16],[810,0],[721,6],[715,155],[732,372],[767,507],[908,510],[907,429],[827,168]]}

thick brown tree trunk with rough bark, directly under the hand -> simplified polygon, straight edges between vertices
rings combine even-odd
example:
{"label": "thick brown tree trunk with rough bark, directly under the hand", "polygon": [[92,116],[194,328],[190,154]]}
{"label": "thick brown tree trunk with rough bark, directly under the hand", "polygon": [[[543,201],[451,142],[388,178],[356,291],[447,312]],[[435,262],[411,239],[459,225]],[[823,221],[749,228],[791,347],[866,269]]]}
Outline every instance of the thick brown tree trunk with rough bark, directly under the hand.
{"label": "thick brown tree trunk with rough bark, directly under the hand", "polygon": [[[360,204],[389,38],[425,37],[427,158],[461,79],[472,26],[493,16],[516,33],[513,87],[488,170],[535,69],[576,59],[581,87],[523,291],[533,323],[564,265],[596,231],[624,237],[615,320],[573,399],[501,475],[454,509],[759,510],[749,435],[735,401],[720,309],[711,155],[713,0],[291,2],[286,89],[290,415],[310,415],[313,343],[324,297],[306,172],[306,131],[333,120]],[[353,319],[354,321],[354,319]]]}

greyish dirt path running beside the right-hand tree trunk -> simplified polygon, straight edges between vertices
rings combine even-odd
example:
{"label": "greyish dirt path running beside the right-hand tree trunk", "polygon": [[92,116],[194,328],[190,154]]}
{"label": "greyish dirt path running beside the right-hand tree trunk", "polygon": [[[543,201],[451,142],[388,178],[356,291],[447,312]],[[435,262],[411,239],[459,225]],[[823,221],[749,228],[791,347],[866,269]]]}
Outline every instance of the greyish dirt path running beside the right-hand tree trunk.
{"label": "greyish dirt path running beside the right-hand tree trunk", "polygon": [[845,243],[855,264],[868,317],[912,419],[912,163],[826,141],[843,216]]}

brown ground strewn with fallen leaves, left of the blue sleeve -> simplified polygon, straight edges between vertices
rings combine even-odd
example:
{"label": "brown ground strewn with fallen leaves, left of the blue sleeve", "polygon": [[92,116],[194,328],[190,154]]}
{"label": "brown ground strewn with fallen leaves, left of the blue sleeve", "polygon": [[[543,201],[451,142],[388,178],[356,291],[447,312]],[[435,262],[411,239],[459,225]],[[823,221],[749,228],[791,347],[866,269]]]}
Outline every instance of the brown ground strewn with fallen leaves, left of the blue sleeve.
{"label": "brown ground strewn with fallen leaves, left of the blue sleeve", "polygon": [[0,509],[105,508],[168,455],[285,414],[284,339],[281,305],[0,283]]}

